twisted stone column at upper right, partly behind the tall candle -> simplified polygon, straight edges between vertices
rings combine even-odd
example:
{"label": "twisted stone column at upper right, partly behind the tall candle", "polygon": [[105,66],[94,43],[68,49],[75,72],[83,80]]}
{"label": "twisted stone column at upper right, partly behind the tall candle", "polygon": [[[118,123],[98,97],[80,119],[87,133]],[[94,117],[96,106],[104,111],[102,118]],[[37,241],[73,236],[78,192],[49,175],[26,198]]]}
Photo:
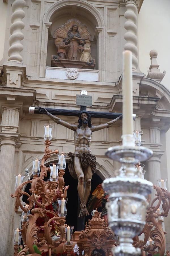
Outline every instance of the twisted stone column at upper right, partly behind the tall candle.
{"label": "twisted stone column at upper right, partly behind the tall candle", "polygon": [[124,34],[124,38],[127,41],[124,49],[132,52],[132,70],[137,71],[137,0],[124,0],[124,3],[126,6],[124,17],[127,19],[124,24],[124,28],[127,30],[127,32]]}

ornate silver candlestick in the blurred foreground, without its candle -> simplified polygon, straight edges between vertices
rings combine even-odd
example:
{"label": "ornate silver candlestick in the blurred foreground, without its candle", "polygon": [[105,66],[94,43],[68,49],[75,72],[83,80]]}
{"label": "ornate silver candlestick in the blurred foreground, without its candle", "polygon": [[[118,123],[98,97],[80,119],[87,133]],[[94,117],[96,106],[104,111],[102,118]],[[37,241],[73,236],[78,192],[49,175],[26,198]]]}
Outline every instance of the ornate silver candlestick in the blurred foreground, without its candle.
{"label": "ornate silver candlestick in the blurred foreground, without its candle", "polygon": [[123,135],[123,145],[108,149],[106,156],[122,163],[117,177],[103,181],[103,189],[109,193],[107,202],[108,222],[119,236],[120,245],[113,247],[114,256],[140,255],[141,249],[133,247],[132,238],[145,225],[146,197],[153,184],[140,178],[134,164],[149,159],[153,152],[145,147],[135,146],[133,135]]}

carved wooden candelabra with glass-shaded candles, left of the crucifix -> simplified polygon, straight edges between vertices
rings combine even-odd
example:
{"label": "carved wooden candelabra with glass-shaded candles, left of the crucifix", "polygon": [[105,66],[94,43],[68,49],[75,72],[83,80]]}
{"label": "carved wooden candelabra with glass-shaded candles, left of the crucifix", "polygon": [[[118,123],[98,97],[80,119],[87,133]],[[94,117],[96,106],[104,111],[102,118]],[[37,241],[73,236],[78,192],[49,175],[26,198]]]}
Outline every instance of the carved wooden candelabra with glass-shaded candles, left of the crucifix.
{"label": "carved wooden candelabra with glass-shaded candles, left of the crucifix", "polygon": [[[45,125],[45,154],[41,159],[33,160],[33,177],[32,180],[23,181],[21,174],[16,175],[15,192],[11,197],[15,197],[15,212],[18,213],[20,207],[23,211],[22,214],[22,228],[15,230],[14,235],[14,255],[24,256],[27,253],[46,252],[49,256],[52,252],[61,244],[66,243],[66,251],[70,246],[70,242],[66,242],[66,230],[65,228],[65,216],[67,214],[66,202],[67,198],[63,196],[64,174],[65,174],[65,157],[66,154],[58,153],[58,150],[50,150],[51,131],[50,125]],[[50,167],[46,167],[44,162],[50,158],[52,154],[58,154],[58,164],[50,164]],[[41,162],[41,164],[40,164]],[[40,171],[41,169],[41,171]],[[29,172],[25,170],[26,175],[29,177]],[[47,177],[47,172],[50,172],[50,180],[44,181],[44,177]],[[31,189],[29,190],[31,195],[23,191],[26,184],[31,183]],[[68,188],[68,187],[67,187]],[[29,205],[25,207],[21,203],[21,196],[26,195]],[[41,200],[40,200],[41,199]],[[58,201],[58,213],[52,209],[52,202]],[[31,210],[31,214],[29,211]],[[44,218],[42,226],[37,224],[39,218]],[[52,223],[56,225],[58,223],[58,238],[54,239],[52,235]],[[20,240],[24,243],[24,248],[19,250]],[[69,237],[70,239],[70,237]],[[68,240],[68,237],[67,237]],[[69,247],[69,248],[67,248]],[[18,252],[19,251],[19,252]]]}

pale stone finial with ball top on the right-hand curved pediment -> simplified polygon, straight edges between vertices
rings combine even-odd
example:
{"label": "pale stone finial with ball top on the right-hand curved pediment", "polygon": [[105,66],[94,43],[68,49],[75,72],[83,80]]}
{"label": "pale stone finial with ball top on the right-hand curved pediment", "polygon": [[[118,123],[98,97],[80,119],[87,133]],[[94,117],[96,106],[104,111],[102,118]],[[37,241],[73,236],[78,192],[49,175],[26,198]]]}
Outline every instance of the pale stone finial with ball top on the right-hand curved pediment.
{"label": "pale stone finial with ball top on the right-hand curved pediment", "polygon": [[160,72],[160,69],[158,69],[159,65],[157,63],[157,56],[158,52],[156,50],[151,50],[150,53],[150,59],[151,59],[151,64],[148,69],[148,75],[146,77],[154,79],[158,82],[161,82],[163,77],[166,74],[166,71],[163,71],[163,73]]}

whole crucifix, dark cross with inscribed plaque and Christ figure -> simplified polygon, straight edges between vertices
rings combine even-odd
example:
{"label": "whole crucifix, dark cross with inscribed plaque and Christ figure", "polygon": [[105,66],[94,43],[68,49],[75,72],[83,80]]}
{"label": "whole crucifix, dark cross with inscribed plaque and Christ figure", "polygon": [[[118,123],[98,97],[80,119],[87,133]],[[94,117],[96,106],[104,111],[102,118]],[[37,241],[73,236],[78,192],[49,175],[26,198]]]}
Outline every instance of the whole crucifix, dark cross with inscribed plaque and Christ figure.
{"label": "whole crucifix, dark cross with inscribed plaque and Christ figure", "polygon": [[[69,152],[68,154],[68,156],[71,157],[68,162],[68,168],[71,176],[75,179],[78,179],[77,189],[78,189],[78,195],[81,202],[79,218],[84,218],[84,216],[89,215],[89,212],[86,208],[86,203],[90,195],[92,175],[96,172],[96,164],[97,164],[96,157],[91,154],[91,150],[90,150],[92,132],[111,127],[116,121],[118,121],[119,119],[122,119],[122,114],[109,113],[109,112],[108,113],[92,112],[92,111],[87,112],[86,106],[92,106],[92,96],[81,94],[81,95],[77,95],[76,97],[77,97],[76,105],[80,106],[79,111],[78,110],[56,110],[56,109],[37,107],[34,109],[34,113],[46,114],[55,123],[63,125],[64,127],[67,127],[68,129],[71,129],[74,131],[75,152],[74,153]],[[30,113],[33,113],[33,111],[31,112],[30,110]],[[55,115],[79,116],[78,125],[72,125],[66,121],[61,120],[59,117]],[[113,120],[104,124],[93,126],[91,123],[91,117],[109,118]],[[78,227],[79,229],[81,225],[78,224],[78,226],[79,226]]]}

